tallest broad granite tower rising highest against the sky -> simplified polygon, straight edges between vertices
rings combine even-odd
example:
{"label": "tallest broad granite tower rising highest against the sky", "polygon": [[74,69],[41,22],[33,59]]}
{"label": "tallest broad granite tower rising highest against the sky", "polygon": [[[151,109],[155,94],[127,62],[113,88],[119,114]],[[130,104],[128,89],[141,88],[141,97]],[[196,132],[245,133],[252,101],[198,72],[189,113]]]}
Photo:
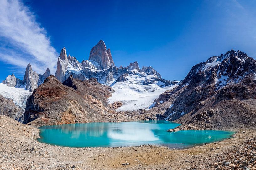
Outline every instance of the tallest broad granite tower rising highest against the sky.
{"label": "tallest broad granite tower rising highest against the sky", "polygon": [[115,66],[110,49],[106,48],[106,45],[102,40],[91,49],[89,60],[93,60],[99,64],[98,70]]}

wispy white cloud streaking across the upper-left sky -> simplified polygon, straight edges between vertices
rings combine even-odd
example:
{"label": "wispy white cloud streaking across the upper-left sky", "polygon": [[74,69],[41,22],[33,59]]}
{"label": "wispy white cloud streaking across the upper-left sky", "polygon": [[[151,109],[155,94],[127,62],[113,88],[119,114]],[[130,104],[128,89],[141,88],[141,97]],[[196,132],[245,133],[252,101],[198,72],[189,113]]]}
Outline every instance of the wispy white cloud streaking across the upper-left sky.
{"label": "wispy white cloud streaking across the upper-left sky", "polygon": [[0,60],[19,69],[31,63],[38,73],[49,67],[54,73],[58,54],[29,8],[18,0],[1,0],[0,11]]}

